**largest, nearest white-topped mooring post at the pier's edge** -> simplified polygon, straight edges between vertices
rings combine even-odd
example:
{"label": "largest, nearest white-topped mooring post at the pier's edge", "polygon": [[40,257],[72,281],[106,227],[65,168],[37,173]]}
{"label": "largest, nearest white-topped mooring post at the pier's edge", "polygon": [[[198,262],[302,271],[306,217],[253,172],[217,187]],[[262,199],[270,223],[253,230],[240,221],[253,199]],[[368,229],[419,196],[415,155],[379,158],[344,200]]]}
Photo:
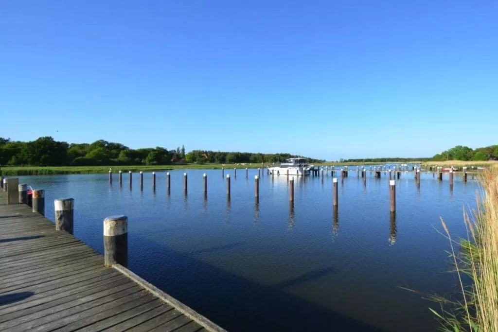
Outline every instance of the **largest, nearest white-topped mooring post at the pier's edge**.
{"label": "largest, nearest white-topped mooring post at the pier's edge", "polygon": [[128,262],[128,217],[104,219],[104,266],[126,266]]}

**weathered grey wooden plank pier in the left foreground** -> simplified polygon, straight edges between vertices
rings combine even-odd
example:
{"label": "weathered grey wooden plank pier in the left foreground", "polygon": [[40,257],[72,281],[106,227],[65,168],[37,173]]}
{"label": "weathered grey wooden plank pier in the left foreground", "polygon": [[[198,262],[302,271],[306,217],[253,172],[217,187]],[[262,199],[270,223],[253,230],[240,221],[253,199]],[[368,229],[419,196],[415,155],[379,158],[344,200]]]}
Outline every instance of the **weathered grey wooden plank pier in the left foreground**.
{"label": "weathered grey wooden plank pier in the left foreground", "polygon": [[[0,192],[0,331],[223,332]],[[50,206],[50,205],[48,205]]]}

